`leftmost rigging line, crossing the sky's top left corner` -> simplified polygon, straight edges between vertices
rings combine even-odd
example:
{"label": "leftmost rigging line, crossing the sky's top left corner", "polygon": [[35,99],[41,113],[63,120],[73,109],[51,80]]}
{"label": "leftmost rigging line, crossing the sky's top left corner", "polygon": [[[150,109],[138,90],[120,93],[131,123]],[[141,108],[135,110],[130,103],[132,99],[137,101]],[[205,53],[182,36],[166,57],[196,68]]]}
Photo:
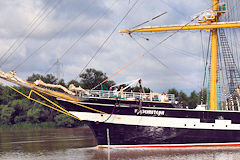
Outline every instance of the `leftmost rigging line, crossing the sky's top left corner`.
{"label": "leftmost rigging line, crossing the sky's top left corner", "polygon": [[[47,11],[48,7],[48,3],[50,2],[50,0],[48,0],[48,2],[46,3],[46,5],[44,5],[44,7],[38,12],[38,14],[32,19],[32,22],[30,24],[28,24],[28,26],[21,32],[20,35],[24,34],[25,31],[27,31],[27,29],[31,29],[33,27],[33,25],[39,20],[39,18]],[[41,14],[42,13],[42,14]],[[15,44],[20,40],[20,37],[18,39],[16,39],[11,46],[2,54],[2,56],[0,57],[0,61],[3,59],[3,57],[5,57],[8,52],[15,46]]]}

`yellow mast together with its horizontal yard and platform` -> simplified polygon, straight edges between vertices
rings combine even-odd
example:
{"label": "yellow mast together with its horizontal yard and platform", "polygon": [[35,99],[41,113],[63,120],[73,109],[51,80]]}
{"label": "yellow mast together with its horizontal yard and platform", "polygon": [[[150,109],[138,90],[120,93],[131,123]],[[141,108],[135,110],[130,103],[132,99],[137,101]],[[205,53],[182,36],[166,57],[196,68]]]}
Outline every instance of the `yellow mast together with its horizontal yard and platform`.
{"label": "yellow mast together with its horizontal yard and platform", "polygon": [[198,16],[198,23],[185,25],[150,26],[129,30],[121,30],[120,33],[133,32],[161,32],[179,30],[211,30],[211,73],[210,73],[210,110],[217,110],[217,52],[218,52],[218,29],[240,27],[240,21],[218,22],[222,13],[227,12],[226,1],[212,0],[212,11],[204,12]]}

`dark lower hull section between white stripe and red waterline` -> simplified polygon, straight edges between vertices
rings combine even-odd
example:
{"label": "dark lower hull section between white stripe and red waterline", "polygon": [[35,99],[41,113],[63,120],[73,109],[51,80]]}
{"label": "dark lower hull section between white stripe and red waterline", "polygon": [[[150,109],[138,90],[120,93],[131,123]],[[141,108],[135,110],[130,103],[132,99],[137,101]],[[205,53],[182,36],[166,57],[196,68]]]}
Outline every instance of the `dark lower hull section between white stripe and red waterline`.
{"label": "dark lower hull section between white stripe and red waterline", "polygon": [[145,127],[87,122],[99,145],[210,144],[240,142],[240,131]]}

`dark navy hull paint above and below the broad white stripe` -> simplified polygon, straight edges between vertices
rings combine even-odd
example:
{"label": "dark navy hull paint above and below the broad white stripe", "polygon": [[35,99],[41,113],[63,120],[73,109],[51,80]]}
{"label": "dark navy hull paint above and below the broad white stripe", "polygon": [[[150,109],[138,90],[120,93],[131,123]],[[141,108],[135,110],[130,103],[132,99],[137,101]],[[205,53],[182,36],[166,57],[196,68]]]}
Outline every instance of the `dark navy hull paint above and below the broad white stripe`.
{"label": "dark navy hull paint above and below the broad white stripe", "polygon": [[[148,103],[142,106],[144,110],[164,111],[163,115],[137,114],[138,102],[130,104],[121,101],[88,100],[84,105],[94,109],[113,113],[115,115],[134,115],[149,117],[172,117],[172,118],[199,118],[200,122],[214,123],[216,119],[231,120],[232,124],[240,124],[240,112],[231,111],[196,111],[173,108],[171,104]],[[74,105],[67,101],[59,101],[68,111],[94,112],[89,109]],[[108,104],[108,105],[106,105]],[[110,105],[110,106],[109,106]],[[150,106],[149,106],[150,105]],[[164,107],[166,105],[166,107]],[[154,106],[161,106],[154,107]],[[111,115],[110,115],[111,116]],[[106,119],[106,121],[108,118]],[[111,145],[150,145],[150,144],[192,144],[192,143],[232,143],[240,142],[239,130],[215,130],[215,129],[187,129],[151,127],[140,125],[111,124],[103,122],[86,123],[92,129],[99,145],[107,145],[107,132],[110,132]]]}

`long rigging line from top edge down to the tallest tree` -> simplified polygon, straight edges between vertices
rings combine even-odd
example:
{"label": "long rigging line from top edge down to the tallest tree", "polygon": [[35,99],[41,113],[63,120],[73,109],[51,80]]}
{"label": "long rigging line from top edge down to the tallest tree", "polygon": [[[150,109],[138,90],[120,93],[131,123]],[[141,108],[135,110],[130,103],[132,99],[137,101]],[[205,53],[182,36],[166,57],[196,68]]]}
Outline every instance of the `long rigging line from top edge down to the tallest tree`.
{"label": "long rigging line from top edge down to the tallest tree", "polygon": [[[101,44],[101,46],[97,49],[97,51],[95,52],[95,54],[91,57],[91,59],[88,61],[88,63],[83,67],[83,69],[81,70],[81,72],[79,73],[82,74],[83,71],[87,68],[87,66],[91,63],[91,61],[93,60],[94,57],[97,56],[97,54],[100,52],[100,50],[103,48],[103,46],[106,44],[106,42],[110,39],[110,37],[112,36],[112,34],[116,31],[116,29],[118,28],[118,26],[123,22],[123,20],[128,16],[128,14],[130,13],[130,11],[134,8],[134,6],[139,2],[139,0],[136,0],[135,3],[131,6],[131,8],[127,11],[127,13],[123,16],[123,18],[121,19],[121,21],[115,26],[115,28],[113,29],[113,31],[108,35],[108,37],[104,40],[104,42]],[[78,75],[76,76],[75,80],[78,78]]]}

